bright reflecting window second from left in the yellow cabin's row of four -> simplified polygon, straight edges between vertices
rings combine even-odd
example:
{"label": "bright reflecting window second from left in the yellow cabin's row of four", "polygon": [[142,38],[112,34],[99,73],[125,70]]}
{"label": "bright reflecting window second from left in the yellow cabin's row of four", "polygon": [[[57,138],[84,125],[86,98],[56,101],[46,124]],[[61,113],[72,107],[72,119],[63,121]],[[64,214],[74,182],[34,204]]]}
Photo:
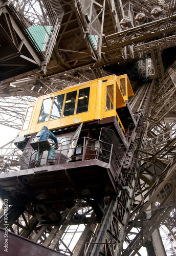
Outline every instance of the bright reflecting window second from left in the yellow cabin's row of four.
{"label": "bright reflecting window second from left in the yellow cabin's row of four", "polygon": [[50,120],[61,117],[63,100],[64,94],[55,96]]}

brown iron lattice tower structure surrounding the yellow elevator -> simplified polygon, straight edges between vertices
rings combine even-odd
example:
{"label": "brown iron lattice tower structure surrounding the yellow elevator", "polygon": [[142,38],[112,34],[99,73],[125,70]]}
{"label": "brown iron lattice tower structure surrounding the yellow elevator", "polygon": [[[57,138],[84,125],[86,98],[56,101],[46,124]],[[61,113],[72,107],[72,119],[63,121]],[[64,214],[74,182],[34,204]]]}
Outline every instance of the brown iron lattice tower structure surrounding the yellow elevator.
{"label": "brown iron lattice tower structure surrounding the yellow elevator", "polygon": [[[46,246],[57,255],[131,256],[141,255],[142,247],[149,255],[175,255],[175,2],[57,2],[0,1],[1,123],[19,130],[27,104],[36,97],[127,73],[135,92],[130,107],[141,115],[131,148],[134,167],[126,189],[116,199],[102,200],[101,223],[82,200],[52,225],[40,222],[35,209],[21,206],[16,216],[9,216],[11,236],[18,234],[21,244],[28,238],[39,244],[37,248]],[[152,17],[156,6],[159,16]],[[139,23],[136,16],[141,12],[145,20]],[[47,31],[42,50],[31,30],[34,25]],[[167,63],[165,55],[170,58]],[[20,152],[12,142],[0,150],[0,165],[8,169],[11,156]],[[161,225],[167,230],[165,248]]]}

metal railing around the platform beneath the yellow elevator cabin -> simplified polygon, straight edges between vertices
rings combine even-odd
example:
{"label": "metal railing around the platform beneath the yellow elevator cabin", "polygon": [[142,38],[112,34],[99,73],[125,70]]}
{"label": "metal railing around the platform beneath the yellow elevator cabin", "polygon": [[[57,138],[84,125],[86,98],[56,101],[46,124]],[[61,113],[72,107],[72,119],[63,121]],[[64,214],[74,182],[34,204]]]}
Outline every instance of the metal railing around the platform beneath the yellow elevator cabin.
{"label": "metal railing around the platform beneath the yellow elevator cabin", "polygon": [[[79,138],[79,141],[81,141],[80,144],[75,139],[62,141],[59,148],[55,150],[54,162],[56,164],[62,164],[96,159],[111,165],[115,174],[117,173],[120,161],[118,152],[115,151],[113,144],[88,137]],[[19,155],[19,152],[21,151],[15,148],[3,165],[0,173],[14,172],[16,170],[34,167],[37,150],[29,146],[22,150],[21,155]],[[46,162],[48,160],[46,157],[42,157],[42,159],[46,160]]]}

